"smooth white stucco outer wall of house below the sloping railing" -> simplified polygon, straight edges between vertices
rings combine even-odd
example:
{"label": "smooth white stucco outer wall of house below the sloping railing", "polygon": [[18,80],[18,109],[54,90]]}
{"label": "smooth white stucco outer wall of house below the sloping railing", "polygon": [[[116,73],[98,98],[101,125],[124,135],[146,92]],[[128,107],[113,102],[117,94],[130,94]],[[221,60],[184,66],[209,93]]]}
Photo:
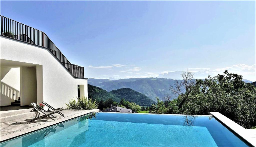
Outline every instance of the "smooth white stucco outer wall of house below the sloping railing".
{"label": "smooth white stucco outer wall of house below the sloping railing", "polygon": [[42,81],[40,81],[42,87],[37,88],[37,93],[43,93],[42,99],[45,102],[57,108],[66,107],[65,103],[68,103],[71,98],[77,97],[77,85],[84,85],[86,88],[84,95],[88,97],[87,79],[74,78],[48,49],[4,36],[1,36],[0,41],[1,59],[42,65]]}

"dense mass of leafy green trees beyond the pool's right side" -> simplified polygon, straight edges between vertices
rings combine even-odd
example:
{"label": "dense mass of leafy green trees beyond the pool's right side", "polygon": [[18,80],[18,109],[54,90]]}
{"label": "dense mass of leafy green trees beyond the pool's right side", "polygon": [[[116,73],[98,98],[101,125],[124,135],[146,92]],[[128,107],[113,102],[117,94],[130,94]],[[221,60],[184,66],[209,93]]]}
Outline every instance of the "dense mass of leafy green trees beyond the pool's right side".
{"label": "dense mass of leafy green trees beyond the pool's right side", "polygon": [[150,113],[209,115],[209,112],[219,112],[245,128],[255,128],[256,87],[242,79],[241,75],[227,70],[223,75],[196,79],[189,92],[181,92],[168,104],[158,100],[156,106],[151,106]]}

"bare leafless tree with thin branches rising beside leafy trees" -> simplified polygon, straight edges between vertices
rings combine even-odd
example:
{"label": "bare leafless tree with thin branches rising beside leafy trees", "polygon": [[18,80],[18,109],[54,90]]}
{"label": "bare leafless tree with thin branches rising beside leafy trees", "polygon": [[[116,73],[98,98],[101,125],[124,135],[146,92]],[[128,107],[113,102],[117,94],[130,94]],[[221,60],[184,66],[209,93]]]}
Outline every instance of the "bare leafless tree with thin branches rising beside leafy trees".
{"label": "bare leafless tree with thin branches rising beside leafy trees", "polygon": [[[182,100],[179,103],[179,109],[182,108],[182,105],[187,100],[190,92],[192,91],[192,87],[195,85],[195,80],[193,79],[194,74],[195,73],[192,73],[188,70],[186,72],[182,72],[181,77],[183,80],[180,82],[176,80],[174,84],[175,86],[170,86],[169,88],[174,96],[182,97]],[[170,100],[170,96],[167,96],[165,99]]]}

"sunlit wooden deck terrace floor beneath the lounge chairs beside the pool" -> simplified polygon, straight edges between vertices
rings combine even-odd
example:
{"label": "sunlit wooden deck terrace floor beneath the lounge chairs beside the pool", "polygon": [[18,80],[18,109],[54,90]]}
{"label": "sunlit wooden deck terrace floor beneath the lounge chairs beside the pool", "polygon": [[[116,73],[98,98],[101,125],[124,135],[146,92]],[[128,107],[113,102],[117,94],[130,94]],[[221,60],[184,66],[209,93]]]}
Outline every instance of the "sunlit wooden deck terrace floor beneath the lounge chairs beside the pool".
{"label": "sunlit wooden deck terrace floor beneath the lounge chairs beside the pool", "polygon": [[9,140],[11,138],[15,138],[17,136],[21,136],[42,128],[46,128],[46,127],[88,114],[91,112],[99,112],[99,109],[63,110],[61,111],[61,113],[64,114],[64,117],[60,116],[59,114],[54,114],[55,117],[57,116],[57,118],[55,118],[55,121],[53,121],[49,117],[45,117],[43,119],[30,122],[31,119],[35,118],[35,115],[33,115],[29,117],[15,119],[12,121],[1,122],[0,123],[0,141],[2,142],[5,140]]}

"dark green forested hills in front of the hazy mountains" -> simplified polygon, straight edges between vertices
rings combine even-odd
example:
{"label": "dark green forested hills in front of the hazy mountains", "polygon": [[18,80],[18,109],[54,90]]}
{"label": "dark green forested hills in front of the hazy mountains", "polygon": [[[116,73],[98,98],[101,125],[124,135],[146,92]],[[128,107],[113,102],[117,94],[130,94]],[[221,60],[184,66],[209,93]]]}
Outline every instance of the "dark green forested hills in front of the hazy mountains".
{"label": "dark green forested hills in front of the hazy mountains", "polygon": [[90,84],[88,84],[88,97],[94,100],[96,99],[98,102],[101,100],[105,101],[109,98],[113,99],[115,102],[120,102],[123,98],[140,106],[151,106],[153,103],[155,103],[147,96],[132,90],[131,88],[120,88],[108,92],[100,87],[92,86]]}

